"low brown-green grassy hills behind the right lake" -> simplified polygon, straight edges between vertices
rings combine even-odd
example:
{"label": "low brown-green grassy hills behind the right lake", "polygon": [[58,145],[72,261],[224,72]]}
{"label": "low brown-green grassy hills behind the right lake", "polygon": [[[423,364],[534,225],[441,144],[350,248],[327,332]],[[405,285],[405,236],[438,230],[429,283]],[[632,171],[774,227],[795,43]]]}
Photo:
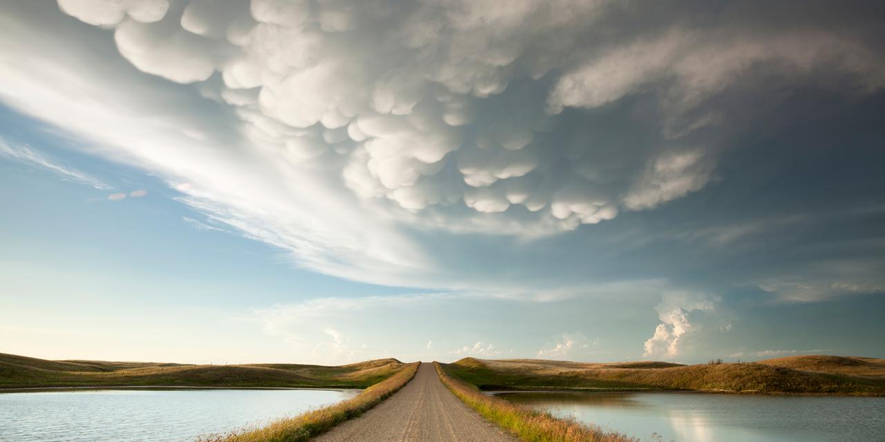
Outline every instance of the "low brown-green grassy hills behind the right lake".
{"label": "low brown-green grassy hills behind the right lake", "polygon": [[445,364],[445,369],[484,390],[639,389],[885,396],[883,362],[838,356],[697,365],[465,358]]}

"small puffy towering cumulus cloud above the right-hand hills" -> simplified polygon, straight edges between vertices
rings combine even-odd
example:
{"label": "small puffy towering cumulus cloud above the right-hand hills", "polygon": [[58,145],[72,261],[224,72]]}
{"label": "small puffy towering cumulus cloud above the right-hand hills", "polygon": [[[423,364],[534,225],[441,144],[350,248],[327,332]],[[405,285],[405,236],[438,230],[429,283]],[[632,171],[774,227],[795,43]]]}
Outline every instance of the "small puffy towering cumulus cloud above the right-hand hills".
{"label": "small puffy towering cumulus cloud above the right-hand hills", "polygon": [[703,293],[666,293],[658,307],[661,324],[645,341],[643,357],[673,358],[683,354],[685,340],[700,330],[693,317],[716,309],[718,300]]}

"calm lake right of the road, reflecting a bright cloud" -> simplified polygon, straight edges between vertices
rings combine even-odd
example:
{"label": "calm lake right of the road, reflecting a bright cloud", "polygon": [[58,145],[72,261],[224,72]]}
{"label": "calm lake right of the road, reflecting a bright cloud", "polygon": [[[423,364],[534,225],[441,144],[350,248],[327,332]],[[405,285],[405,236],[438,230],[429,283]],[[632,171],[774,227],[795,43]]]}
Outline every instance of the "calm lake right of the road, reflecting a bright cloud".
{"label": "calm lake right of the road, reflecting a bright cloud", "polygon": [[[690,392],[505,392],[504,400],[573,416],[641,440],[885,440],[885,398]],[[653,436],[655,433],[659,435]]]}

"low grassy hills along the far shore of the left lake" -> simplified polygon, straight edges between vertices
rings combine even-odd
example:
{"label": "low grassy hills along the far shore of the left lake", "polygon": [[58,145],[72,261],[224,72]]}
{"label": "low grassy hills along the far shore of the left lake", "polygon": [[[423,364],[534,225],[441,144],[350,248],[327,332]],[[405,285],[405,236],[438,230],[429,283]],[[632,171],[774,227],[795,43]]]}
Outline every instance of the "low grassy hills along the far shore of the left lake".
{"label": "low grassy hills along the far shore of the left lake", "polygon": [[350,365],[188,365],[157,362],[48,361],[0,354],[0,389],[62,386],[365,388],[405,364],[379,359]]}

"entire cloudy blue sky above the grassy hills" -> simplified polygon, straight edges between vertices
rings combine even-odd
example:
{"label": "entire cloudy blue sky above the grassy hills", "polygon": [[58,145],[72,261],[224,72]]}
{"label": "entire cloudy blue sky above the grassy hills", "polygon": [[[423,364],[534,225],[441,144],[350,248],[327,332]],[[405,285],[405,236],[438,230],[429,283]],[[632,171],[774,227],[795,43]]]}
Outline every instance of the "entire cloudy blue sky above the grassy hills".
{"label": "entire cloudy blue sky above the grassy hills", "polygon": [[0,3],[0,352],[885,357],[881,2]]}

